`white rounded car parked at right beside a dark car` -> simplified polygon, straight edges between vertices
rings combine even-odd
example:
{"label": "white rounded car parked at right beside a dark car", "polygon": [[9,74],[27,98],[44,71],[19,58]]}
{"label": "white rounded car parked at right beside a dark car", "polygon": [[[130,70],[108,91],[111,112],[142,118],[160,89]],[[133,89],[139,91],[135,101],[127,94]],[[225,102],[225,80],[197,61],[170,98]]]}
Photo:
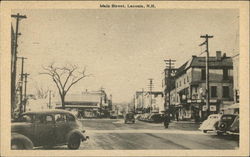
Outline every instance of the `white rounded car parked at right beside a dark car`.
{"label": "white rounded car parked at right beside a dark car", "polygon": [[207,133],[208,131],[216,131],[221,116],[221,114],[209,115],[208,118],[200,125],[199,130],[202,130],[204,133]]}

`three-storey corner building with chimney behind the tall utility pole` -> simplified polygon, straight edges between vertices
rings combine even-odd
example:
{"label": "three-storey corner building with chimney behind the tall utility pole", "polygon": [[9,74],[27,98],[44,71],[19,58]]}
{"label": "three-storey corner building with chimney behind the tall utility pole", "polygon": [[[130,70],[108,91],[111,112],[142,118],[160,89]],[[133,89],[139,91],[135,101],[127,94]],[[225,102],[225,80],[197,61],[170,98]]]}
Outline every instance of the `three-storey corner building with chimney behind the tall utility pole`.
{"label": "three-storey corner building with chimney behind the tall utility pole", "polygon": [[[193,56],[177,69],[173,78],[172,114],[179,119],[206,117],[206,58]],[[233,61],[226,54],[222,56],[220,51],[215,57],[209,57],[209,88],[210,113],[219,113],[233,103]]]}

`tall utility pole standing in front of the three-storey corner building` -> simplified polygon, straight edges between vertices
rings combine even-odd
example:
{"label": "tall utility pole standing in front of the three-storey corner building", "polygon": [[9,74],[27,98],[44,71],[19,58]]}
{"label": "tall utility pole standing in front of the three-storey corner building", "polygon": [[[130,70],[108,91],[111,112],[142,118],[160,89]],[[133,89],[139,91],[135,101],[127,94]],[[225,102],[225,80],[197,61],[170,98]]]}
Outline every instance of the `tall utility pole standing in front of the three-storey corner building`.
{"label": "tall utility pole standing in front of the three-storey corner building", "polygon": [[201,35],[201,38],[205,38],[205,42],[200,44],[200,46],[206,44],[206,52],[207,52],[207,57],[206,57],[206,106],[207,106],[207,116],[210,114],[210,90],[209,90],[209,50],[208,50],[208,39],[213,38],[211,35]]}

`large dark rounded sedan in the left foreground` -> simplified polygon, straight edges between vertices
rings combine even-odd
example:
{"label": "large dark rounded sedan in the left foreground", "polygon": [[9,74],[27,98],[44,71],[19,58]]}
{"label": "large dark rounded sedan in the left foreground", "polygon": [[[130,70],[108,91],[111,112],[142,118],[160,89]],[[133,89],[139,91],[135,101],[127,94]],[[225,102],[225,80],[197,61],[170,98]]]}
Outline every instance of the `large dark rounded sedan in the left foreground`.
{"label": "large dark rounded sedan in the left foreground", "polygon": [[81,123],[69,111],[48,110],[23,113],[11,123],[11,149],[33,149],[68,145],[78,149],[84,135]]}

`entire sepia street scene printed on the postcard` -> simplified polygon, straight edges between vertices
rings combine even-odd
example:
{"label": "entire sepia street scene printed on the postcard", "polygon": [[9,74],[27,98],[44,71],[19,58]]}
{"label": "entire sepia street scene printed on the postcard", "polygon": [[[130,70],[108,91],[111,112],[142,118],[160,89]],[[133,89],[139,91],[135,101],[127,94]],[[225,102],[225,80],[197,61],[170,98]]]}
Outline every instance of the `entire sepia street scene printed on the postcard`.
{"label": "entire sepia street scene printed on the postcard", "polygon": [[5,147],[241,150],[240,11],[152,1],[11,8]]}

